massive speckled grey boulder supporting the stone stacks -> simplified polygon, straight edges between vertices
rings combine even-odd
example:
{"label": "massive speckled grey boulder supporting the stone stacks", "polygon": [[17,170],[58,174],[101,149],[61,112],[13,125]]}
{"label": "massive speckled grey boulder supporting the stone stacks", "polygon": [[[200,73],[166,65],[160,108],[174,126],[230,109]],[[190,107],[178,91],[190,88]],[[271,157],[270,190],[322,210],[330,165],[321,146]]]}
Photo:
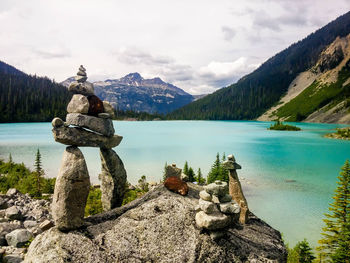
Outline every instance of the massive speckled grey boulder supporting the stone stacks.
{"label": "massive speckled grey boulder supporting the stone stacks", "polygon": [[85,219],[86,228],[37,236],[25,262],[286,262],[278,231],[253,214],[213,241],[196,227],[200,187],[187,196],[157,186],[126,206]]}

